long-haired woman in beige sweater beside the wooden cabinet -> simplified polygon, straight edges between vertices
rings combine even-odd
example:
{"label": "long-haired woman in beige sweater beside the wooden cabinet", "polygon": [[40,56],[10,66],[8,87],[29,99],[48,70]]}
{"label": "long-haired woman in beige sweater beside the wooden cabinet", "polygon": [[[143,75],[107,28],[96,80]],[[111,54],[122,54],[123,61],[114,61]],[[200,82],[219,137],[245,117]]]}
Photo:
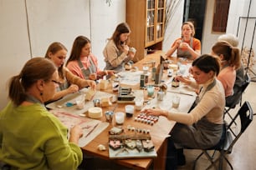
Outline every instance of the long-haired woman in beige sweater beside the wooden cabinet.
{"label": "long-haired woman in beige sweater beside the wooden cabinet", "polygon": [[103,50],[105,57],[105,70],[122,72],[125,63],[130,62],[135,56],[135,48],[129,47],[131,29],[127,23],[120,23],[110,37]]}

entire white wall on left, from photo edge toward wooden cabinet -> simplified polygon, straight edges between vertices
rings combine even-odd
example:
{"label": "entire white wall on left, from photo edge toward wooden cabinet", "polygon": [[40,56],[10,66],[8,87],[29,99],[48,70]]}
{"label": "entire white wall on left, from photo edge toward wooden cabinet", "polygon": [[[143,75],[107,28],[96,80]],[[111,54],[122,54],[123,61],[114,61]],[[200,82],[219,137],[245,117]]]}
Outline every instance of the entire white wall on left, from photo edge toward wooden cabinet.
{"label": "entire white wall on left, from photo edge toward wooden cabinet", "polygon": [[29,58],[44,56],[51,42],[62,42],[70,52],[75,37],[89,37],[103,68],[105,40],[125,22],[125,0],[112,0],[110,7],[105,0],[1,0],[0,21],[1,110],[8,102],[8,79]]}

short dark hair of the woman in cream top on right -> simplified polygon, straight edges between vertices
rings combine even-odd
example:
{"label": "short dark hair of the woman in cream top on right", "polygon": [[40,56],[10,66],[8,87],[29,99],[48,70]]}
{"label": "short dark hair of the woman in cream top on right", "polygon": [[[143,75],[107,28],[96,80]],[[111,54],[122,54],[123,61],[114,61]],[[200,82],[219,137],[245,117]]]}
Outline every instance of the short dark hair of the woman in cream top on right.
{"label": "short dark hair of the woman in cream top on right", "polygon": [[208,54],[203,54],[192,62],[192,66],[198,67],[202,72],[215,72],[216,76],[218,76],[220,71],[220,59]]}

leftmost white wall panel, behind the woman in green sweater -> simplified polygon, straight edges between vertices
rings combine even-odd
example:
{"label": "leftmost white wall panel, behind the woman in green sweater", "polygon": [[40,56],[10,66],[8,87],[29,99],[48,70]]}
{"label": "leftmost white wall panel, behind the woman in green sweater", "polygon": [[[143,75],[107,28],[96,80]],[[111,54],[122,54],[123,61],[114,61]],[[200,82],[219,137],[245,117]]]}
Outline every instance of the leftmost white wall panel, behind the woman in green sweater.
{"label": "leftmost white wall panel, behind the woman in green sweater", "polygon": [[30,58],[28,28],[23,1],[0,1],[0,109],[7,103],[9,77],[18,74]]}

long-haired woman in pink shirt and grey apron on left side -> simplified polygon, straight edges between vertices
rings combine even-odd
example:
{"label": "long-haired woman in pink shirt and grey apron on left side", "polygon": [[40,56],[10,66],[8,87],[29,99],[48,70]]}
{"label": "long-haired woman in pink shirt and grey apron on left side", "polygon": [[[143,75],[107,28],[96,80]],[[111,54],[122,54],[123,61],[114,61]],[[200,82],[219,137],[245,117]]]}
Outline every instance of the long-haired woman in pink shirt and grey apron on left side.
{"label": "long-haired woman in pink shirt and grey apron on left side", "polygon": [[96,80],[114,74],[112,70],[100,70],[97,57],[91,53],[90,39],[84,36],[74,39],[66,66],[74,75],[84,79]]}

